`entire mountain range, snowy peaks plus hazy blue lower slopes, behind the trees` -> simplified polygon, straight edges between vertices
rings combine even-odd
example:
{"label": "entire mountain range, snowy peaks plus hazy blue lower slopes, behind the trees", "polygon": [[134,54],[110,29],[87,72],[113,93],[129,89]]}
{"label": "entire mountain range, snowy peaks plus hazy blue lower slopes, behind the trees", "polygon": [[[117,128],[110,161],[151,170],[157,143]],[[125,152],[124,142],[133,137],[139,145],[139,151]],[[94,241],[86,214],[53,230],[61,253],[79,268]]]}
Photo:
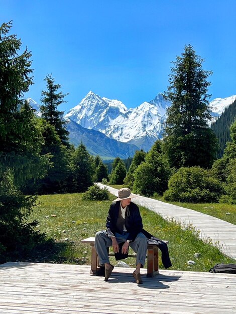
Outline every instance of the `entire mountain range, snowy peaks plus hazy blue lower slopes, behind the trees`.
{"label": "entire mountain range, snowy peaks plus hazy blue lower slopes, behind the trees", "polygon": [[[212,107],[213,121],[235,99],[236,95],[212,100],[209,105]],[[38,104],[31,98],[28,101],[40,115]],[[91,154],[99,154],[105,159],[115,156],[128,158],[141,148],[148,151],[158,138],[162,138],[166,110],[170,105],[159,93],[153,100],[128,109],[120,100],[100,97],[89,91],[78,105],[65,114],[65,119],[76,123],[68,123],[70,141],[75,145],[82,141]],[[105,137],[101,137],[101,134]],[[110,142],[110,139],[116,142]],[[133,146],[118,145],[117,141]],[[115,147],[113,155],[110,145]]]}

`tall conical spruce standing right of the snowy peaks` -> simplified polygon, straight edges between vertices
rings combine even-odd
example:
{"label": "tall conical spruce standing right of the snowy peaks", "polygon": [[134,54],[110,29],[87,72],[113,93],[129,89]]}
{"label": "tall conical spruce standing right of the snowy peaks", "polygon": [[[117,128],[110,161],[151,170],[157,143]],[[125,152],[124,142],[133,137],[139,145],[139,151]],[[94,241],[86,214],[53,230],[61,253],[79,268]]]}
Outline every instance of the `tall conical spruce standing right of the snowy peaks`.
{"label": "tall conical spruce standing right of the snowy peaks", "polygon": [[167,109],[165,150],[172,167],[210,167],[215,159],[217,139],[208,127],[210,109],[207,77],[192,46],[184,48],[173,62],[165,97],[172,102]]}

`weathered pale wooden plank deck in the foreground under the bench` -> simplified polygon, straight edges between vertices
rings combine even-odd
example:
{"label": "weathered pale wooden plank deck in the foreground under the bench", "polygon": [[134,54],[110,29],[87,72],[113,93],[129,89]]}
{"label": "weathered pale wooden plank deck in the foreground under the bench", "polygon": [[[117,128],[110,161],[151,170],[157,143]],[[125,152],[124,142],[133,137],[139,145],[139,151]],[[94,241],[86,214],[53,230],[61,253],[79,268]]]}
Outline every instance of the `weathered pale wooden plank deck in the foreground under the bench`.
{"label": "weathered pale wooden plank deck in the foreground under the bench", "polygon": [[0,265],[4,314],[227,314],[236,313],[236,275],[161,270],[137,285],[133,268],[114,268],[108,281],[90,266]]}

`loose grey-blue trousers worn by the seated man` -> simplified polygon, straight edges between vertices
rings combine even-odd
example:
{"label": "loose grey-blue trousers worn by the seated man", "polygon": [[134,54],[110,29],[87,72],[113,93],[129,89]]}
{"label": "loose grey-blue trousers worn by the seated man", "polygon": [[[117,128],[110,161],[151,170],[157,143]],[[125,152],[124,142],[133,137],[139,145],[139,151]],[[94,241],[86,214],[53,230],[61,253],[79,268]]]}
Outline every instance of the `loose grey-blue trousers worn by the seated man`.
{"label": "loose grey-blue trousers worn by the seated man", "polygon": [[[127,240],[129,233],[115,233],[114,236],[119,244]],[[108,252],[106,249],[109,246],[112,246],[112,240],[108,237],[106,231],[98,231],[95,235],[95,250],[101,266],[104,263],[109,263]],[[144,266],[148,248],[148,242],[145,235],[142,232],[138,233],[135,240],[130,242],[130,247],[137,253],[136,265],[141,263],[141,265]]]}

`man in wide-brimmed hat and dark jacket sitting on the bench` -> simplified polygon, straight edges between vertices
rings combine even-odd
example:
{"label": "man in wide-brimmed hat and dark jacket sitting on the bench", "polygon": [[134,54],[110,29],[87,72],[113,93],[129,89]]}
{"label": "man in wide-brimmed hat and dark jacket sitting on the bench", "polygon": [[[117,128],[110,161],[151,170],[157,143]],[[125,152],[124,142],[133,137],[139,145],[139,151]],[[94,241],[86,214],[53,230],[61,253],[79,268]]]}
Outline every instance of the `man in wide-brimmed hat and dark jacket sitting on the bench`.
{"label": "man in wide-brimmed hat and dark jacket sitting on the bench", "polygon": [[130,246],[137,253],[136,270],[133,276],[138,284],[143,283],[140,268],[145,264],[148,243],[142,233],[143,223],[139,207],[131,202],[132,198],[138,196],[132,194],[128,188],[120,189],[118,198],[113,201],[115,203],[110,205],[106,218],[106,231],[98,231],[95,235],[95,249],[99,264],[105,266],[105,280],[108,280],[114,268],[109,262],[107,247],[112,246],[115,254],[120,252],[128,255]]}

